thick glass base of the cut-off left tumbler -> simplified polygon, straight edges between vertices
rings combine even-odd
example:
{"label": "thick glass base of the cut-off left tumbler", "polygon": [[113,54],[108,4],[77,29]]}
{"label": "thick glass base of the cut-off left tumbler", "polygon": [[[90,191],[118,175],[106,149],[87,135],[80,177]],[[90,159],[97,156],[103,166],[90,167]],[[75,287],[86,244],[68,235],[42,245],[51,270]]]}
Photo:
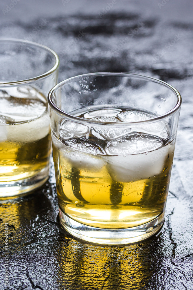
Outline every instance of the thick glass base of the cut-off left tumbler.
{"label": "thick glass base of the cut-off left tumbler", "polygon": [[32,193],[42,186],[49,177],[49,168],[46,166],[37,175],[12,182],[0,182],[0,199],[10,199]]}

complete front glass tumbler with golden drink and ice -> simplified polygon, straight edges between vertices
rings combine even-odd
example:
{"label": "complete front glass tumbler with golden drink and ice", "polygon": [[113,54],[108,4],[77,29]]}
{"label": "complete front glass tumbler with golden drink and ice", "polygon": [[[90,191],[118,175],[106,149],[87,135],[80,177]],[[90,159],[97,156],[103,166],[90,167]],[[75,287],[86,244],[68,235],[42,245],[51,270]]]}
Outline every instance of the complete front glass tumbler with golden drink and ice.
{"label": "complete front glass tumbler with golden drink and ice", "polygon": [[91,73],[48,95],[61,225],[99,244],[157,233],[164,211],[181,96],[163,81]]}

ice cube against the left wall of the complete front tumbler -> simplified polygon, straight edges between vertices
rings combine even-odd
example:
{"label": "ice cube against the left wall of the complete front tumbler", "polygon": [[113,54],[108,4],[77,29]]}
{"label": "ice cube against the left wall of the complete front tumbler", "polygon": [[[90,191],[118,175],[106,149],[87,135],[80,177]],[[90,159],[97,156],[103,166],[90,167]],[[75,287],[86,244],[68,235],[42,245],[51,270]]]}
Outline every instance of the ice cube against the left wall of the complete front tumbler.
{"label": "ice cube against the left wall of the complete front tumbler", "polygon": [[63,120],[60,123],[60,138],[84,136],[89,132],[89,127],[80,123]]}

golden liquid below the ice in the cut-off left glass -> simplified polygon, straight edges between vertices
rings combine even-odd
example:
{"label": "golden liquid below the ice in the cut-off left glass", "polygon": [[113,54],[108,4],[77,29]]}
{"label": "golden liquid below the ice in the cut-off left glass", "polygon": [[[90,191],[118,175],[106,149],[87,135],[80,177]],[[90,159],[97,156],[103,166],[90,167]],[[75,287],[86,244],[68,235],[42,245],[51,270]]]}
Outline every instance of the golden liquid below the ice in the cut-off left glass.
{"label": "golden liquid below the ice in the cut-off left glass", "polygon": [[36,175],[49,164],[51,137],[34,142],[0,142],[0,182]]}

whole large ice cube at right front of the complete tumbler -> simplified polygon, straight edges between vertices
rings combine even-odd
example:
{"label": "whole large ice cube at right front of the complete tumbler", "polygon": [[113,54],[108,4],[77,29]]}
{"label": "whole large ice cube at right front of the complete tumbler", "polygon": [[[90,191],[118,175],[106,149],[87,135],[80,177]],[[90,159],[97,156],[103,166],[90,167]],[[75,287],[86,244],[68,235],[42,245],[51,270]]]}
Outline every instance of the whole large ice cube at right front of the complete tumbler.
{"label": "whole large ice cube at right front of the complete tumbler", "polygon": [[117,182],[132,182],[157,175],[163,171],[168,154],[170,157],[173,154],[174,146],[161,147],[163,144],[159,138],[145,136],[141,139],[139,135],[130,136],[128,142],[113,141],[108,148],[109,153],[117,154],[106,157],[108,171]]}

